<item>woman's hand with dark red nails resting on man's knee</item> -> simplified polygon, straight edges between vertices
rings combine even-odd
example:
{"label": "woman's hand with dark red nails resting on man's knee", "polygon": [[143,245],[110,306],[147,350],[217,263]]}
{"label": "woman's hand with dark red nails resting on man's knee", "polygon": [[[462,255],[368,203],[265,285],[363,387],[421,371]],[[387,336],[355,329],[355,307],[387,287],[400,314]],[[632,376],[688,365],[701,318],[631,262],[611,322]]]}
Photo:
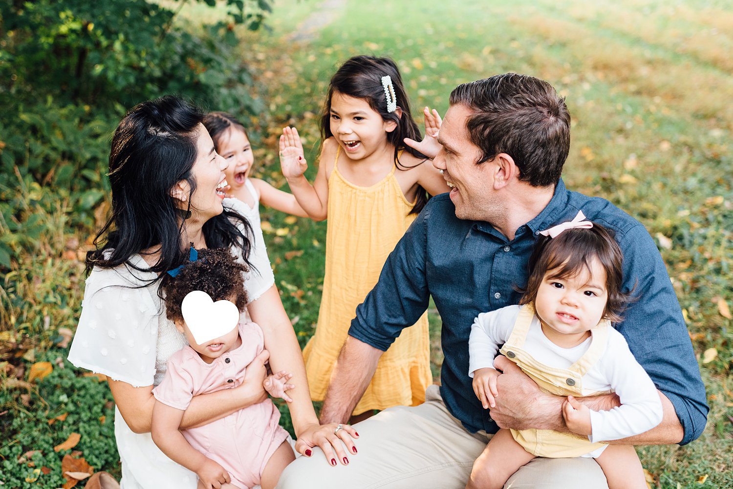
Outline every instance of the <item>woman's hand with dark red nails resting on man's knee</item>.
{"label": "woman's hand with dark red nails resting on man's knee", "polygon": [[[352,437],[358,438],[359,434],[350,424],[309,424],[298,433],[295,450],[310,457],[311,449],[314,446],[320,446],[326,461],[331,466],[337,465],[336,460],[342,465],[347,465],[349,463],[347,455],[356,454],[356,446],[354,446]],[[350,454],[344,452],[344,445]]]}

